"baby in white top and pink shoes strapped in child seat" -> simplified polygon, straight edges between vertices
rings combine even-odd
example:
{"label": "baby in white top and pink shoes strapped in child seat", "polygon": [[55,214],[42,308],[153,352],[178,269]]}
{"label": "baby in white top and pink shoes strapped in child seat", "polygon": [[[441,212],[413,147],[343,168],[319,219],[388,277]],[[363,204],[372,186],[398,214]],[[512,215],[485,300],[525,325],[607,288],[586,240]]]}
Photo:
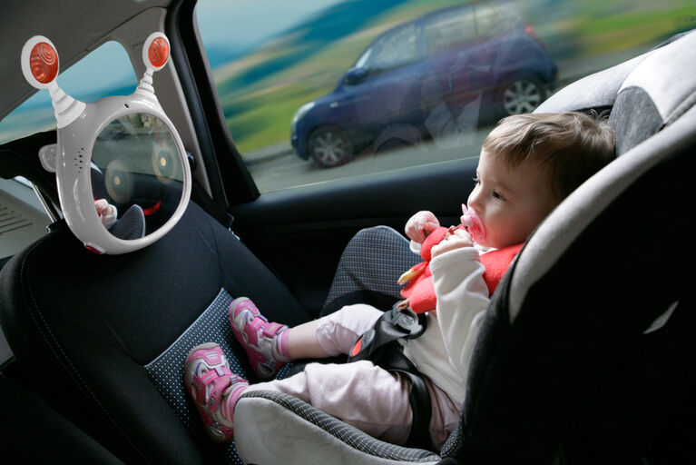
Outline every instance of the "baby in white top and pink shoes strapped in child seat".
{"label": "baby in white top and pink shoes strapped in child seat", "polygon": [[[437,449],[458,423],[476,334],[490,302],[479,257],[524,242],[566,195],[612,159],[613,129],[585,114],[510,116],[485,139],[467,202],[484,234],[476,234],[475,243],[457,229],[432,247],[436,312],[426,313],[423,335],[403,341],[430,393],[430,440]],[[433,213],[419,212],[406,233],[417,249],[438,226]],[[349,305],[289,328],[268,322],[244,297],[229,309],[232,331],[261,380],[288,361],[349,353],[381,314],[365,304]],[[396,444],[404,444],[411,429],[410,382],[371,361],[309,363],[287,379],[250,385],[230,371],[220,346],[208,342],[189,353],[184,381],[213,440],[233,437],[234,407],[250,390],[288,393]]]}

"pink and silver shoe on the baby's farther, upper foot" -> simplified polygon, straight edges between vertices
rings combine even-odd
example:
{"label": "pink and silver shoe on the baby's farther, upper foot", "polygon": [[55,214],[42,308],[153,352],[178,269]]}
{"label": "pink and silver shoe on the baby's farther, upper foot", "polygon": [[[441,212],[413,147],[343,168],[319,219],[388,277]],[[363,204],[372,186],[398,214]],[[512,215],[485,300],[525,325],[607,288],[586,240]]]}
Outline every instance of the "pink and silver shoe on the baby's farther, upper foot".
{"label": "pink and silver shoe on the baby's farther, upper foot", "polygon": [[228,316],[232,332],[247,351],[251,369],[262,381],[273,378],[290,361],[280,353],[287,353],[284,349],[287,347],[287,334],[282,333],[288,330],[288,326],[269,322],[248,297],[232,301]]}

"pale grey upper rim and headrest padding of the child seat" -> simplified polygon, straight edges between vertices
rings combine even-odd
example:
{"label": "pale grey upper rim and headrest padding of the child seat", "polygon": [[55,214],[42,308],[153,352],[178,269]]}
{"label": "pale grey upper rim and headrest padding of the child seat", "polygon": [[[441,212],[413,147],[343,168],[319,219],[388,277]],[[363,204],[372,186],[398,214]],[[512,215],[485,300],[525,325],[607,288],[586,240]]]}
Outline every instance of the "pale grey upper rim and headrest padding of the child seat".
{"label": "pale grey upper rim and headrest padding of the child seat", "polygon": [[[571,193],[527,242],[511,280],[510,322],[520,312],[527,290],[597,216],[644,173],[696,139],[694,74],[696,33],[691,32],[629,62],[587,76],[539,107],[540,112],[577,110],[613,100],[610,120],[616,127],[617,155],[623,156]],[[617,85],[618,81],[621,84]],[[608,85],[608,89],[599,88],[601,85]],[[572,94],[576,95],[574,102]],[[640,207],[636,205],[636,210]]]}

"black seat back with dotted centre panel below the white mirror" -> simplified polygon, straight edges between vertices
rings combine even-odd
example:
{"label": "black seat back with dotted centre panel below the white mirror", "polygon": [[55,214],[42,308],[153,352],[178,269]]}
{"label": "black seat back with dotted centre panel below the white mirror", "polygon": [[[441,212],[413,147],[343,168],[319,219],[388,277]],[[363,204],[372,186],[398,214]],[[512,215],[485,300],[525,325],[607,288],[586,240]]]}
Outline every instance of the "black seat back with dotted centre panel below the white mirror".
{"label": "black seat back with dotted centre panel below the white mirror", "polygon": [[[38,160],[46,138],[2,150]],[[35,182],[36,166],[12,175]],[[191,347],[216,341],[253,381],[227,323],[226,305],[240,295],[276,321],[310,319],[234,234],[190,203],[160,241],[123,255],[88,252],[56,223],[0,272],[0,322],[14,378],[123,462],[240,463],[233,442],[213,445],[204,434],[182,378]]]}

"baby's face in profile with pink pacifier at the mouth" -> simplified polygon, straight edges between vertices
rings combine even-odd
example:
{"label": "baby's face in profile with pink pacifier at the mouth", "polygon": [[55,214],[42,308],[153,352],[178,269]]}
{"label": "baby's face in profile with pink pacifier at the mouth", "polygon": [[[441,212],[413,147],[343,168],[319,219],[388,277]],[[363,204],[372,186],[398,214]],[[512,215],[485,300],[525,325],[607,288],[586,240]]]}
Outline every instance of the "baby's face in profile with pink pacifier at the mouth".
{"label": "baby's face in profile with pink pacifier at the mouth", "polygon": [[510,168],[482,151],[476,181],[468,207],[484,224],[486,247],[524,242],[556,204],[536,163]]}

